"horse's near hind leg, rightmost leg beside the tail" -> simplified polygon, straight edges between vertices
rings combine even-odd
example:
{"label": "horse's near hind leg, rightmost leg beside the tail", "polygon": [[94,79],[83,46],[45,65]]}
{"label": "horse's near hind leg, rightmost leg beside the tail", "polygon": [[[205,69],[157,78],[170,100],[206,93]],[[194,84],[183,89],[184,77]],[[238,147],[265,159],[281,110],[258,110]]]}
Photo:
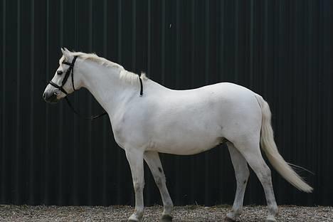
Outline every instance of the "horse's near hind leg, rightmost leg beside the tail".
{"label": "horse's near hind leg, rightmost leg beside the tail", "polygon": [[243,138],[240,139],[240,141],[233,142],[233,144],[238,151],[243,154],[243,157],[246,159],[253,171],[255,171],[260,183],[263,185],[268,205],[268,218],[266,221],[275,221],[278,209],[273,191],[272,177],[270,174],[270,168],[267,166],[263,156],[261,155],[259,138]]}

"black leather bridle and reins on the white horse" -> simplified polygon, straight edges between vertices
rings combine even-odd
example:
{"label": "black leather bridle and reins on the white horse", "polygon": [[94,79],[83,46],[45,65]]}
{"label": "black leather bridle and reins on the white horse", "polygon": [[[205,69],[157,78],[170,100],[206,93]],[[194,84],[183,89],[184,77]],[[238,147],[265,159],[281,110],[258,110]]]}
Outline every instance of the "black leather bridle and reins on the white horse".
{"label": "black leather bridle and reins on the white horse", "polygon": [[[70,74],[72,74],[72,87],[73,87],[73,90],[75,90],[75,87],[74,87],[74,63],[75,63],[75,60],[76,58],[78,58],[78,56],[74,56],[73,60],[72,60],[72,63],[68,63],[66,61],[63,61],[63,64],[65,65],[69,65],[69,68],[68,70],[66,71],[65,73],[65,77],[63,78],[63,81],[61,82],[61,85],[58,85],[56,83],[53,83],[52,80],[50,80],[50,85],[52,85],[53,87],[59,89],[61,92],[65,93],[65,100],[68,104],[68,106],[70,107],[70,109],[72,109],[72,111],[78,115],[80,118],[82,119],[85,119],[85,120],[95,120],[99,117],[102,117],[103,115],[107,115],[107,112],[102,112],[101,114],[99,115],[95,115],[95,116],[91,116],[91,117],[83,117],[82,115],[80,115],[80,113],[78,111],[75,110],[75,108],[73,107],[73,105],[70,103],[70,100],[68,100],[68,93],[66,92],[66,90],[63,88],[63,86],[66,84],[67,80],[68,80],[68,77],[70,76]],[[58,73],[58,75],[61,75],[62,73]],[[140,82],[140,97],[142,97],[143,95],[143,85],[142,85],[142,79],[141,79],[141,73],[140,74],[137,74],[139,76],[139,82]]]}

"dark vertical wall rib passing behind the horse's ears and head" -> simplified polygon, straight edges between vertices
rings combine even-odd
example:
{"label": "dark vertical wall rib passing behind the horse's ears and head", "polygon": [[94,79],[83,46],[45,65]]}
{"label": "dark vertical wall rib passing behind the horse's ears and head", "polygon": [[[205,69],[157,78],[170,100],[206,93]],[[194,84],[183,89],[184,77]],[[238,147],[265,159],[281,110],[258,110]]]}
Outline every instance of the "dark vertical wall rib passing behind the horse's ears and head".
{"label": "dark vertical wall rib passing behind the horse's ears and head", "polygon": [[[60,47],[63,46],[63,0],[60,0]],[[58,138],[58,204],[63,204],[63,102],[59,104],[59,134]]]}

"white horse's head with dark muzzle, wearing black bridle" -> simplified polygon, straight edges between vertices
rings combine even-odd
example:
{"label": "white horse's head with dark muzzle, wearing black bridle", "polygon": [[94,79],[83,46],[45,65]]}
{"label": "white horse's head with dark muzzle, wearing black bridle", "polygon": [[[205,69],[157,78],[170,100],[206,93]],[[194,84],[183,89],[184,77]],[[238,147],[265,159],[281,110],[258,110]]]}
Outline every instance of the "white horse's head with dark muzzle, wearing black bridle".
{"label": "white horse's head with dark muzzle, wearing black bridle", "polygon": [[[61,48],[61,51],[63,56],[59,60],[59,67],[43,93],[43,99],[46,102],[56,103],[80,88],[80,84],[78,84],[80,75],[75,75],[74,78],[74,66],[77,56],[73,56],[73,53],[68,51],[67,48]],[[76,70],[75,74],[77,74]]]}

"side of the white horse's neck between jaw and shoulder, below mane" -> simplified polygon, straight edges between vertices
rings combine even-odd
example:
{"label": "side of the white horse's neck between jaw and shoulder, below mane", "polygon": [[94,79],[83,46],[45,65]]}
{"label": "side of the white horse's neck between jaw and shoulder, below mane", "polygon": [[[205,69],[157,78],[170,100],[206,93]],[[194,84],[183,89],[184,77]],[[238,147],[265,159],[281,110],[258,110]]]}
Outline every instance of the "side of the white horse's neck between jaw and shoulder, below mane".
{"label": "side of the white horse's neck between jaw and shoulder, below mane", "polygon": [[85,68],[83,87],[87,88],[109,115],[134,92],[134,86],[120,79],[121,68],[92,65]]}

